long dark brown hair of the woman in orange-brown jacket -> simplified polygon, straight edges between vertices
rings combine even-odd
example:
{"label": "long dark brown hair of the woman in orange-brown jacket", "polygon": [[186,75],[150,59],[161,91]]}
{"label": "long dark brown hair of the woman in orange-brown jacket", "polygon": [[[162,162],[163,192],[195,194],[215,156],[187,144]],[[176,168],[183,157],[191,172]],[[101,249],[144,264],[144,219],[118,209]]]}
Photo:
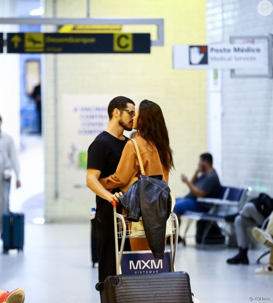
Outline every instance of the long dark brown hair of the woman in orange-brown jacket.
{"label": "long dark brown hair of the woman in orange-brown jacket", "polygon": [[174,168],[168,130],[160,106],[143,100],[139,105],[137,126],[142,138],[155,144],[163,166],[168,170]]}

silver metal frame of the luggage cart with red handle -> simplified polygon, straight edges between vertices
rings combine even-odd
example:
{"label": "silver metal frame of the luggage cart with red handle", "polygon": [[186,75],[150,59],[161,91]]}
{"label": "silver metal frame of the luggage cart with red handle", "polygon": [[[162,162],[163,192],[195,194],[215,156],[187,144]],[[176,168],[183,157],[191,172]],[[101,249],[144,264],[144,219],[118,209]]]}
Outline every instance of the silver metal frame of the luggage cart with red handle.
{"label": "silver metal frame of the luggage cart with red handle", "polygon": [[[132,230],[131,221],[126,220],[126,215],[121,215],[117,213],[117,205],[120,202],[113,201],[113,209],[114,209],[114,233],[115,233],[115,256],[116,256],[116,271],[117,275],[121,274],[121,262],[122,257],[126,253],[124,252],[124,243],[125,238],[145,238],[144,230]],[[166,237],[170,238],[170,250],[165,250],[165,257],[169,255],[170,258],[170,270],[168,271],[176,271],[175,269],[175,257],[176,257],[176,248],[178,241],[178,219],[175,213],[171,213],[166,227]],[[135,235],[136,233],[141,233],[142,235]],[[173,235],[175,235],[175,241],[173,243]],[[121,238],[121,248],[118,250],[118,239]],[[142,254],[151,254],[151,251],[134,251],[133,253],[142,253]]]}

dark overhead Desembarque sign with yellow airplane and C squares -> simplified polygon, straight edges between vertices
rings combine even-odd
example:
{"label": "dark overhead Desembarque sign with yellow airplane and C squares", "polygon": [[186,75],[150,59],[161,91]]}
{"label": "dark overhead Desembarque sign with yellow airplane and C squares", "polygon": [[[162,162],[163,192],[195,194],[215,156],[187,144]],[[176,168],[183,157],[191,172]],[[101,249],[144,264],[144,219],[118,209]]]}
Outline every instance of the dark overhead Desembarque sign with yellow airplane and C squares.
{"label": "dark overhead Desembarque sign with yellow airplane and C squares", "polygon": [[7,33],[8,53],[149,54],[150,34]]}

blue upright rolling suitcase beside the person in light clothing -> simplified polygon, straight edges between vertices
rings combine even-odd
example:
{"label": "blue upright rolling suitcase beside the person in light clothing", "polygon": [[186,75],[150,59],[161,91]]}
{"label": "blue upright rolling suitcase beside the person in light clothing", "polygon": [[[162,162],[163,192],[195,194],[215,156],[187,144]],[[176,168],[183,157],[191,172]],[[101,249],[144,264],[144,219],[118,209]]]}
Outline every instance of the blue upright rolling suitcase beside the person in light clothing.
{"label": "blue upright rolling suitcase beside the person in light clothing", "polygon": [[23,250],[24,246],[24,214],[4,213],[3,214],[3,252],[9,249]]}

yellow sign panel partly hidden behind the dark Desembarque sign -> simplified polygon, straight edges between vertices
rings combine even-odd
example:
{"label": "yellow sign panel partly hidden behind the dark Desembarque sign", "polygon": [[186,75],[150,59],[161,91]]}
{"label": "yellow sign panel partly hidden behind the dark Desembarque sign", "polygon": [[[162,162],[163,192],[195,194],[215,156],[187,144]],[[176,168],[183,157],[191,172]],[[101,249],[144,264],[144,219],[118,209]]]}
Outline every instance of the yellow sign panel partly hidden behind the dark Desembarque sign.
{"label": "yellow sign panel partly hidden behind the dark Desembarque sign", "polygon": [[121,25],[73,25],[67,24],[63,25],[59,31],[59,33],[75,33],[75,34],[111,34],[111,33],[121,33]]}

